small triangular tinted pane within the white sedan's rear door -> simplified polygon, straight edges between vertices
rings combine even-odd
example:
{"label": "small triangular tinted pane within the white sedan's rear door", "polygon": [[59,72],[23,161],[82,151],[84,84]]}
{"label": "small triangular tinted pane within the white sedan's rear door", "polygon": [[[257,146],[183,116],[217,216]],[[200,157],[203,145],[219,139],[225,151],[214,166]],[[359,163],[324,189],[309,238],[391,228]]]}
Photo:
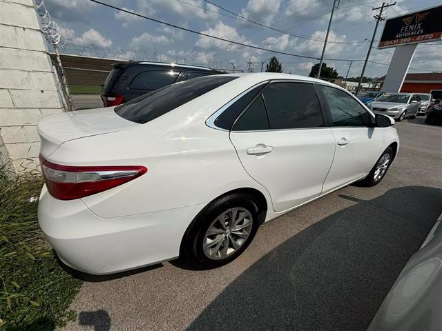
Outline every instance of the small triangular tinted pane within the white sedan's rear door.
{"label": "small triangular tinted pane within the white sedan's rear door", "polygon": [[269,130],[269,120],[262,95],[245,110],[233,127],[234,131]]}

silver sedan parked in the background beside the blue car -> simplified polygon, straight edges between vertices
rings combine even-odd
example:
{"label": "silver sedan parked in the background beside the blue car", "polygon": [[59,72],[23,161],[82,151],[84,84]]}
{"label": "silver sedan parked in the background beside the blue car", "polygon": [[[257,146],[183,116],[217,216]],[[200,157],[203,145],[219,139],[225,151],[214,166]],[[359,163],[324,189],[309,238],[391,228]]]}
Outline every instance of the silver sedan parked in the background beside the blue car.
{"label": "silver sedan parked in the background beside the blue car", "polygon": [[369,104],[375,114],[385,114],[400,122],[405,117],[416,117],[421,106],[421,94],[384,93]]}

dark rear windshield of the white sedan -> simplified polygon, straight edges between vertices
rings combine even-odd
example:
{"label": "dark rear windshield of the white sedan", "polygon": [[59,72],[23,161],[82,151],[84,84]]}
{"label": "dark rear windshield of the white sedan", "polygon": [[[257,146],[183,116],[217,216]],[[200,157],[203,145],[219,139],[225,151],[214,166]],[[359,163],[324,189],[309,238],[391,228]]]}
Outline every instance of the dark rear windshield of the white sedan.
{"label": "dark rear windshield of the white sedan", "polygon": [[115,108],[115,112],[129,121],[147,123],[236,78],[206,76],[182,81],[128,101]]}

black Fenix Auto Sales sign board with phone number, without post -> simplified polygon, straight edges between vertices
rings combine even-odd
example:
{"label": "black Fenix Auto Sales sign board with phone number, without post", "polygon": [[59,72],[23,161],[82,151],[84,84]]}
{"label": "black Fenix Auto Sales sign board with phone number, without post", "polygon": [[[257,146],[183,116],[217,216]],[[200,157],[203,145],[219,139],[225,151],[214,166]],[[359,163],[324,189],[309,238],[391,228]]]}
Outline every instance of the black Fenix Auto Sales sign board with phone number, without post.
{"label": "black Fenix Auto Sales sign board with phone number, without post", "polygon": [[387,19],[378,48],[426,43],[442,37],[442,6]]}

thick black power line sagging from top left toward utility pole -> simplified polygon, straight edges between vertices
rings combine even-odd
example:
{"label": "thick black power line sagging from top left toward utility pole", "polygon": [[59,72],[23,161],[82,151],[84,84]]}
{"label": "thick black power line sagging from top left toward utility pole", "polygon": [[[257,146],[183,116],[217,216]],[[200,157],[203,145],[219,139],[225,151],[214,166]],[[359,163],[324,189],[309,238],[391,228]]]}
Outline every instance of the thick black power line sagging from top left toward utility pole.
{"label": "thick black power line sagging from top left toward utility pole", "polygon": [[[184,28],[182,26],[176,26],[175,24],[172,24],[172,23],[167,23],[165,21],[160,21],[159,19],[153,19],[152,17],[147,17],[147,16],[144,16],[142,14],[138,14],[137,12],[131,12],[129,10],[125,10],[123,8],[112,6],[112,5],[109,5],[108,3],[104,3],[104,2],[101,2],[101,1],[98,1],[98,0],[90,0],[90,1],[95,2],[95,3],[99,3],[100,5],[106,6],[108,8],[113,8],[115,10],[119,10],[120,12],[126,12],[127,14],[131,14],[131,15],[135,15],[137,17],[142,17],[144,19],[148,19],[149,21],[154,21],[154,22],[157,22],[157,23],[164,24],[166,26],[171,26],[172,28],[177,28],[177,29],[184,30],[184,31],[187,31],[187,32],[192,32],[192,33],[204,36],[204,37],[218,39],[220,41],[225,41],[227,43],[234,43],[234,44],[236,44],[238,46],[245,46],[245,47],[249,47],[249,48],[254,48],[256,50],[265,50],[267,52],[273,52],[273,53],[282,54],[282,55],[289,55],[291,57],[302,57],[302,58],[305,58],[305,59],[316,59],[316,60],[320,59],[319,57],[310,57],[308,55],[300,55],[300,54],[294,54],[294,53],[288,53],[288,52],[280,52],[278,50],[270,50],[269,48],[262,48],[262,47],[258,47],[258,46],[248,45],[247,43],[240,43],[238,41],[232,41],[232,40],[229,40],[229,39],[224,39],[224,38],[216,37],[216,36],[213,36],[211,34],[206,34],[204,32],[198,32],[198,31],[195,31],[195,30],[191,30],[189,28]],[[329,61],[350,61],[350,59],[326,59],[326,60],[329,60]],[[352,61],[363,61],[363,60],[361,60],[361,59],[354,59]]]}

